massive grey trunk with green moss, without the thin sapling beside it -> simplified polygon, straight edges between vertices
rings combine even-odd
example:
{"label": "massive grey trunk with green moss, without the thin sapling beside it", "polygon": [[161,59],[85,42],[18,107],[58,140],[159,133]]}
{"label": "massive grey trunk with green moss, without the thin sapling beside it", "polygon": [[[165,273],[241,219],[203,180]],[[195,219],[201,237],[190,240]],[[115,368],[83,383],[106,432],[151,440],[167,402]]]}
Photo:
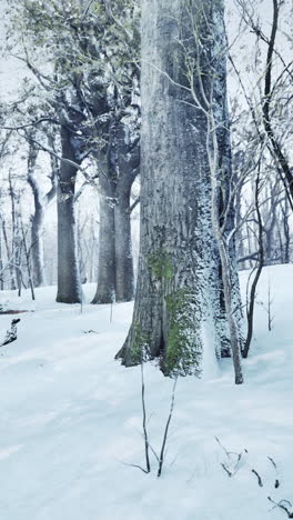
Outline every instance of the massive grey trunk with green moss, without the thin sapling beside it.
{"label": "massive grey trunk with green moss, without the thin sapling beside it", "polygon": [[141,249],[132,327],[117,354],[130,366],[143,349],[168,374],[199,374],[202,354],[222,347],[206,118],[175,44],[183,10],[184,0],[143,1]]}

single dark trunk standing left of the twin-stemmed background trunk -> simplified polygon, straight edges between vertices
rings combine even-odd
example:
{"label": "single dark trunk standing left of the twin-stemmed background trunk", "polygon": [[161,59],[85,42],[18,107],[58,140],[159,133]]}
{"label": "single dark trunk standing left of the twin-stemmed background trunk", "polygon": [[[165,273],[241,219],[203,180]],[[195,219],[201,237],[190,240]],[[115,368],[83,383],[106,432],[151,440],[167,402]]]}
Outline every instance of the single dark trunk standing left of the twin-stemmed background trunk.
{"label": "single dark trunk standing left of the twin-stemmed background trunk", "polygon": [[[78,142],[71,132],[61,128],[62,158],[58,179],[58,293],[57,301],[78,303],[81,301],[81,286],[77,256],[74,188],[77,166],[80,163]],[[67,159],[69,161],[67,161]]]}

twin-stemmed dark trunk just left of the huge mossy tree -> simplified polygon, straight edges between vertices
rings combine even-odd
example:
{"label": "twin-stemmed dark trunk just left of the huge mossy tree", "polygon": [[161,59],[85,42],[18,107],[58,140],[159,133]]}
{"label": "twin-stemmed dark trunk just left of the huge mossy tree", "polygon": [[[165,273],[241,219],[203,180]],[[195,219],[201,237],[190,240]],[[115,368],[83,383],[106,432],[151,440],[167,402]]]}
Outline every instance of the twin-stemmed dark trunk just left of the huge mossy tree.
{"label": "twin-stemmed dark trunk just left of the huge mossy tree", "polygon": [[103,167],[107,174],[100,176],[99,271],[93,303],[131,301],[134,293],[130,193],[140,148],[128,143],[125,134],[127,127],[119,124]]}

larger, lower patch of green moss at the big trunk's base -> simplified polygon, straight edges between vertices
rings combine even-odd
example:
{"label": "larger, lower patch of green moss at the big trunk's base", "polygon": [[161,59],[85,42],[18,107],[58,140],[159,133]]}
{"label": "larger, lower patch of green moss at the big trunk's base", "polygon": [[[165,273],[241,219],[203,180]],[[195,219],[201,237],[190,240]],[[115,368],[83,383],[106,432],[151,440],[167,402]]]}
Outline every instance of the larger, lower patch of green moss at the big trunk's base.
{"label": "larger, lower patch of green moss at the big trunk's base", "polygon": [[194,326],[194,297],[182,288],[165,298],[168,312],[168,346],[164,371],[170,376],[200,373],[201,346]]}

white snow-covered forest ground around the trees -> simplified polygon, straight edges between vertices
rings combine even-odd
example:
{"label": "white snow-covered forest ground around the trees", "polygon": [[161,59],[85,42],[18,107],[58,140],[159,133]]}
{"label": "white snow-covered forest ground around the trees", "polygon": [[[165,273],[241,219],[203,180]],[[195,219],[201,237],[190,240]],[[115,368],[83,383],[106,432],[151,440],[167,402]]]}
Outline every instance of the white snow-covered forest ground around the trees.
{"label": "white snow-covered forest ground around the trees", "polygon": [[[241,274],[243,287],[246,276]],[[161,479],[154,457],[150,474],[127,466],[144,464],[140,369],[113,360],[132,304],[114,304],[112,311],[84,304],[80,313],[79,306],[55,303],[54,288],[37,290],[36,304],[29,293],[21,301],[1,293],[10,308],[36,311],[19,314],[18,340],[0,349],[0,519],[286,518],[284,510],[272,510],[267,496],[293,501],[292,282],[293,266],[264,271],[244,386],[233,384],[230,360],[212,379],[179,380]],[[90,299],[94,288],[85,292]],[[10,320],[0,317],[2,334]],[[170,379],[145,367],[148,427],[156,451],[171,389]],[[228,461],[215,437],[228,451],[244,453],[232,478],[221,466]]]}

